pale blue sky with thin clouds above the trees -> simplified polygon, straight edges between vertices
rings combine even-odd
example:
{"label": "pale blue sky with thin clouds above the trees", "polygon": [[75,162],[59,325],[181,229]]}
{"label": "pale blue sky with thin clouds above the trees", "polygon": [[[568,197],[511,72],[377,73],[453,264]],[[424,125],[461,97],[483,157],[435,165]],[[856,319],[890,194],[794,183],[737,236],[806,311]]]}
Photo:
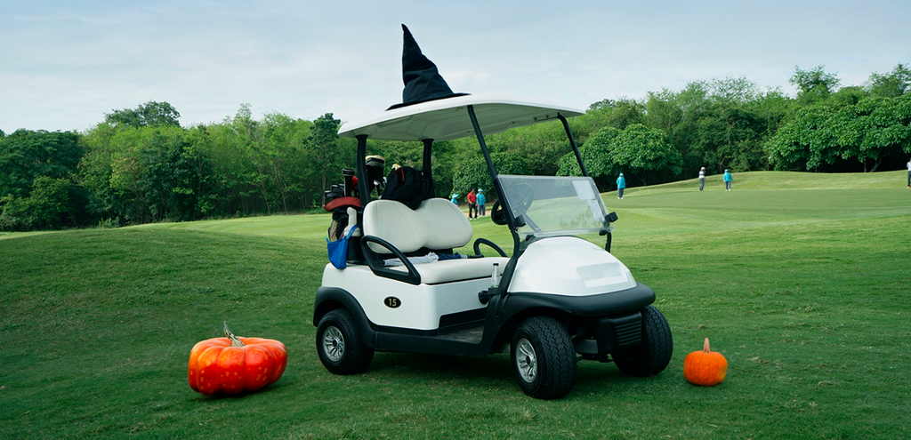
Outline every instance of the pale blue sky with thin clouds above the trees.
{"label": "pale blue sky with thin clouds above the trees", "polygon": [[693,81],[842,86],[911,64],[911,0],[0,0],[0,130],[85,132],[166,101],[354,121],[402,101],[402,29],[455,92],[586,109]]}

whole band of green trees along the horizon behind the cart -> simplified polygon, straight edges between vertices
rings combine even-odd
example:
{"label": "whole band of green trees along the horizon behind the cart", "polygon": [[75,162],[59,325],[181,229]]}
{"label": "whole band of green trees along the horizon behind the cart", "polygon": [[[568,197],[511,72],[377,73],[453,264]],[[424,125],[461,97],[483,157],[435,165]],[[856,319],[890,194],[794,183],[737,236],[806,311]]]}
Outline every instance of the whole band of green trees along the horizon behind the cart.
{"label": "whole band of green trees along the horizon behind the cart", "polygon": [[[851,172],[899,169],[911,154],[911,70],[897,65],[841,87],[824,67],[796,67],[796,97],[746,78],[696,81],[642,99],[604,99],[569,124],[601,190],[724,169]],[[354,168],[356,141],[332,113],[304,120],[251,107],[179,125],[167,102],[112,110],[85,132],[0,131],[0,230],[303,212]],[[504,174],[578,175],[558,122],[486,137]],[[374,141],[368,154],[420,167],[419,142]],[[491,188],[474,138],[435,143],[438,195]]]}

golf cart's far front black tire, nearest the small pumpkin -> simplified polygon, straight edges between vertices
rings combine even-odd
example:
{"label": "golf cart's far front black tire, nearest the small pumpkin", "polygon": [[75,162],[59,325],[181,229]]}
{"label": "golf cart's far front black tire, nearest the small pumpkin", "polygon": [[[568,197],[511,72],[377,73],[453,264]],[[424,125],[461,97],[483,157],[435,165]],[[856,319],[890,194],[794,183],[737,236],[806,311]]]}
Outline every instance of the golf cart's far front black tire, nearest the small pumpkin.
{"label": "golf cart's far front black tire, nearest the small pumpkin", "polygon": [[642,313],[642,343],[613,353],[614,363],[621,372],[631,376],[646,377],[664,371],[674,353],[670,325],[664,315],[653,306],[640,309]]}

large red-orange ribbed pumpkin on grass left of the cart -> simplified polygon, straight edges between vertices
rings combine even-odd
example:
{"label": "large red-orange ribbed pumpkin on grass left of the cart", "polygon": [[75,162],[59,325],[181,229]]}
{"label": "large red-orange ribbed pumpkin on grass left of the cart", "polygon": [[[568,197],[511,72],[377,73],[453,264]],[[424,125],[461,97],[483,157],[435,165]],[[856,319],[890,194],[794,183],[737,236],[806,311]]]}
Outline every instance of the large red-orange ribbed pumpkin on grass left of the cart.
{"label": "large red-orange ribbed pumpkin on grass left of the cart", "polygon": [[242,338],[228,330],[189,352],[189,386],[212,395],[256,391],[279,380],[288,364],[288,350],[272,339]]}

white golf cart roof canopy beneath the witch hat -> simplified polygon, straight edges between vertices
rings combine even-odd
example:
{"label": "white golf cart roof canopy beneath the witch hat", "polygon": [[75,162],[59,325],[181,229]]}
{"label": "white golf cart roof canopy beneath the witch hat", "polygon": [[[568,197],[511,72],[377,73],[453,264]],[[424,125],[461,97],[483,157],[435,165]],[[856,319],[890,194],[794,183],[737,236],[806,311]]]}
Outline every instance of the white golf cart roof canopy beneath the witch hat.
{"label": "white golf cart roof canopy beneath the witch hat", "polygon": [[345,123],[339,136],[354,138],[367,135],[372,139],[435,141],[475,135],[468,106],[474,106],[477,122],[485,135],[539,122],[571,118],[583,111],[551,104],[532,103],[502,95],[467,95],[447,97],[386,110],[374,118]]}

